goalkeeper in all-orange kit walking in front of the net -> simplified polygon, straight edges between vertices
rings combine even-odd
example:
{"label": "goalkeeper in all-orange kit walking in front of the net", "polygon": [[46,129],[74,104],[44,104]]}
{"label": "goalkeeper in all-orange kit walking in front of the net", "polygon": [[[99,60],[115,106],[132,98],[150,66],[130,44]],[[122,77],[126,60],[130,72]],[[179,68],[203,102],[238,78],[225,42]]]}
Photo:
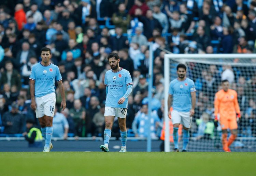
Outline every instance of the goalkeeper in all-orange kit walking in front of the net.
{"label": "goalkeeper in all-orange kit walking in front of the net", "polygon": [[[223,150],[230,152],[229,146],[237,138],[237,117],[240,118],[240,108],[237,100],[237,92],[229,89],[228,80],[222,81],[222,90],[215,94],[214,99],[214,115],[215,124],[219,121],[222,127],[222,145]],[[215,125],[217,126],[217,124]],[[227,141],[228,131],[231,135]]]}

